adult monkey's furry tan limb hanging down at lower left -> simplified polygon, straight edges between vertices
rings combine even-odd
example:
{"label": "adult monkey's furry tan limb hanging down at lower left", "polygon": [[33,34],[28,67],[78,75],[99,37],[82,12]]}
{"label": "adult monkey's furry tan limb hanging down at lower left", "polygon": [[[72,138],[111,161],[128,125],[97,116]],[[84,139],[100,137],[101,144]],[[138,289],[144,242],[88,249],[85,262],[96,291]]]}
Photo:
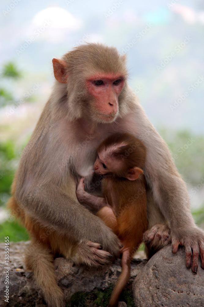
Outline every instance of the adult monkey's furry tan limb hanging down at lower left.
{"label": "adult monkey's furry tan limb hanging down at lower left", "polygon": [[53,255],[48,247],[32,240],[25,252],[25,265],[32,270],[37,286],[42,290],[49,307],[62,307],[63,292],[57,286],[54,274]]}

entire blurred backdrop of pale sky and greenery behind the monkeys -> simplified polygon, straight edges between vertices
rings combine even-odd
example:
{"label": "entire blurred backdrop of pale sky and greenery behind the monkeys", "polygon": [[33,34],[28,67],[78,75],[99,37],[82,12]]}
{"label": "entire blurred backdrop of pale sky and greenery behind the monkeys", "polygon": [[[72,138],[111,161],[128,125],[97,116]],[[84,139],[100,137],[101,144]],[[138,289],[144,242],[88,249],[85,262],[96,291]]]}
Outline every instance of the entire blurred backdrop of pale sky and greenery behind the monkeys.
{"label": "entire blurred backdrop of pale sky and greenery behind the monkeys", "polygon": [[167,142],[204,228],[204,2],[1,1],[0,240],[28,239],[5,204],[54,81],[51,60],[86,42],[127,55],[129,85]]}

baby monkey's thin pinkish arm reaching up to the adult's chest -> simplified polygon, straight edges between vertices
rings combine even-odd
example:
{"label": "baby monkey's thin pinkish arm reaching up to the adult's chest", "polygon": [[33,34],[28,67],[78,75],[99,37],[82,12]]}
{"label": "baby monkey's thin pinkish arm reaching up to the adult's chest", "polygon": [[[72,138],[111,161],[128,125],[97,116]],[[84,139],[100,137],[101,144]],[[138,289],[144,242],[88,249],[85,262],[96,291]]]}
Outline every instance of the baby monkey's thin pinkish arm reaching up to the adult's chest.
{"label": "baby monkey's thin pinkish arm reaching up to the adult's chest", "polygon": [[104,197],[95,196],[84,191],[83,178],[80,179],[79,185],[76,189],[76,196],[79,202],[85,203],[96,210],[99,210],[104,206],[109,206]]}

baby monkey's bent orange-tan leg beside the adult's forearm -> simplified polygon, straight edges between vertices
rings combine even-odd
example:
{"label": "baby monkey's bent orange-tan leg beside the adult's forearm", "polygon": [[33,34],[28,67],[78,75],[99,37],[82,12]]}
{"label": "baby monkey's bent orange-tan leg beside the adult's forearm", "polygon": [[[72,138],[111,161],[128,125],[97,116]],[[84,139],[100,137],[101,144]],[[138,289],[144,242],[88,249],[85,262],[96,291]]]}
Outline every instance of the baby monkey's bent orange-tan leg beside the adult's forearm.
{"label": "baby monkey's bent orange-tan leg beside the adult's forearm", "polygon": [[113,210],[110,207],[103,207],[97,212],[97,216],[118,235],[118,222]]}

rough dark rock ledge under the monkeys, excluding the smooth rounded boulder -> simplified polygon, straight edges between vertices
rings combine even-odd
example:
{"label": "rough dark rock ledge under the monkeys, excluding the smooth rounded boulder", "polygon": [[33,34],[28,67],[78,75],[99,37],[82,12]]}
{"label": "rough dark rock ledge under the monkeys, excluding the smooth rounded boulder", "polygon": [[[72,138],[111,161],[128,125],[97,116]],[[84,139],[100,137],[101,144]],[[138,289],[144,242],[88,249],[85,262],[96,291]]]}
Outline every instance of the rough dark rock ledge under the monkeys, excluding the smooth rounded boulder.
{"label": "rough dark rock ledge under the monkeys, excluding the smooth rounded boulder", "polygon": [[[46,306],[46,303],[42,298],[41,291],[36,288],[32,272],[28,272],[24,268],[22,254],[28,245],[29,242],[24,241],[18,243],[9,243],[9,307]],[[4,262],[4,247],[4,243],[0,243],[0,306],[2,307],[6,306],[6,302],[4,301],[4,291],[6,290],[6,284],[4,283],[6,277],[4,273],[6,270],[4,269],[4,267],[6,267]],[[129,291],[129,293],[131,293],[132,282],[134,281],[137,274],[143,269],[146,263],[147,260],[143,259],[132,260],[131,277],[125,291]],[[94,300],[97,299],[100,301],[99,298],[97,298],[97,291],[107,292],[109,290],[108,295],[106,295],[106,300],[108,300],[109,294],[111,293],[110,284],[116,283],[117,278],[121,272],[120,260],[115,261],[110,266],[99,269],[90,269],[85,266],[75,266],[72,261],[68,261],[61,257],[54,260],[54,266],[58,285],[61,287],[65,294],[65,301],[67,302],[72,300],[73,302],[76,297],[76,299],[79,301],[79,306],[88,306],[89,304],[86,302],[87,298],[84,298],[84,293],[93,293],[90,294],[90,298],[88,299],[90,306]],[[83,295],[79,293],[83,293]],[[103,299],[103,293],[100,293],[100,296]],[[84,304],[83,301],[85,301],[86,304]],[[121,303],[125,304],[124,302]],[[67,306],[69,306],[69,303]],[[74,306],[73,303],[72,306]],[[96,306],[99,306],[99,304]]]}

